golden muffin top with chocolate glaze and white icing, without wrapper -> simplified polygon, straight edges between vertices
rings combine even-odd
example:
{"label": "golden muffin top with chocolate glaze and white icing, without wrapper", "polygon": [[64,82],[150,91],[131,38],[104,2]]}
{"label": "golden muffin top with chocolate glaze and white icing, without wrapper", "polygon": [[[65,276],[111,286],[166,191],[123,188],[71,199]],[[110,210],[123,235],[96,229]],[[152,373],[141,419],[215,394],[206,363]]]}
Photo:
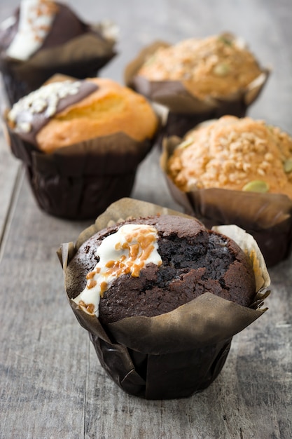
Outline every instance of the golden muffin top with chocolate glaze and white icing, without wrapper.
{"label": "golden muffin top with chocolate glaze and white icing, without wrapper", "polygon": [[14,104],[7,121],[45,153],[120,132],[143,142],[158,128],[143,96],[105,78],[48,83]]}

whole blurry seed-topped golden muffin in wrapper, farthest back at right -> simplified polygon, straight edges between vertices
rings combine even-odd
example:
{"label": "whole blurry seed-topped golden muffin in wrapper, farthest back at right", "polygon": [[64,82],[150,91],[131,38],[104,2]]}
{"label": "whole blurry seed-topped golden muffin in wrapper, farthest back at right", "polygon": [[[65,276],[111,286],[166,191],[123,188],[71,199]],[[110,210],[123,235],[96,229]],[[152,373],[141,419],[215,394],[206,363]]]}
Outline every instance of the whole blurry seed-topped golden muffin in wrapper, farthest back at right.
{"label": "whole blurry seed-topped golden muffin in wrapper, farthest back at right", "polygon": [[125,80],[165,106],[165,135],[181,136],[207,119],[244,116],[268,74],[242,39],[225,33],[155,42],[127,66]]}

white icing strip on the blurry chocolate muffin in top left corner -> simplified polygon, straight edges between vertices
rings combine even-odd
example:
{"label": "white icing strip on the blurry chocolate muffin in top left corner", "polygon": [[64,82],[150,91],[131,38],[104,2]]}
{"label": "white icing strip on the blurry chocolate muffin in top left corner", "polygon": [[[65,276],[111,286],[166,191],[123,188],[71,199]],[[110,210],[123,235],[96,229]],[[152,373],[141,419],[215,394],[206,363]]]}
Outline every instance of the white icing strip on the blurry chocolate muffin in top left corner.
{"label": "white icing strip on the blurry chocolate muffin in top left corner", "polygon": [[55,18],[50,5],[46,0],[22,0],[18,32],[6,50],[8,56],[25,61],[42,46]]}

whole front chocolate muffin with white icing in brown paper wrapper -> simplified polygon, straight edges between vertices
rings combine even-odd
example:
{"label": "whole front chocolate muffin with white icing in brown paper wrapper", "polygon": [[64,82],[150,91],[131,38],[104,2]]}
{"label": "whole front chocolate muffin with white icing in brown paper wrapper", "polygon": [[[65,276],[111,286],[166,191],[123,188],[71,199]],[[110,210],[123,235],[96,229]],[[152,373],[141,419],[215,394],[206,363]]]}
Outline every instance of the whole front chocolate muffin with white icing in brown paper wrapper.
{"label": "whole front chocolate muffin with white icing in brown paper wrapper", "polygon": [[100,363],[124,391],[147,399],[186,398],[209,386],[232,336],[263,312],[269,284],[243,230],[210,231],[130,198],[58,255],[69,304]]}

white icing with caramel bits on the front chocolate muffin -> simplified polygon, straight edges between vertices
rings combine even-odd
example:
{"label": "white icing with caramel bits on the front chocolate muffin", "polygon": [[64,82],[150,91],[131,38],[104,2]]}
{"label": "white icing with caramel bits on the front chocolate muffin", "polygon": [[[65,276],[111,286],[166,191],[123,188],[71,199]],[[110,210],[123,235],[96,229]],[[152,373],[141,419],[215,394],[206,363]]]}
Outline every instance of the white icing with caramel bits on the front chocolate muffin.
{"label": "white icing with caramel bits on the front chocolate muffin", "polygon": [[[73,299],[74,302],[83,311],[98,316],[99,301],[104,291],[103,283],[106,283],[107,289],[122,274],[129,272],[131,276],[137,277],[140,269],[146,264],[162,264],[157,240],[157,229],[146,224],[125,224],[115,234],[106,236],[97,249],[99,262],[91,272],[92,277],[87,276],[87,285],[80,295]],[[111,268],[109,264],[115,265]],[[90,288],[92,281],[95,286]],[[86,309],[89,304],[94,306],[92,312]]]}

